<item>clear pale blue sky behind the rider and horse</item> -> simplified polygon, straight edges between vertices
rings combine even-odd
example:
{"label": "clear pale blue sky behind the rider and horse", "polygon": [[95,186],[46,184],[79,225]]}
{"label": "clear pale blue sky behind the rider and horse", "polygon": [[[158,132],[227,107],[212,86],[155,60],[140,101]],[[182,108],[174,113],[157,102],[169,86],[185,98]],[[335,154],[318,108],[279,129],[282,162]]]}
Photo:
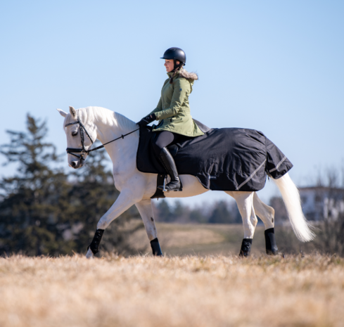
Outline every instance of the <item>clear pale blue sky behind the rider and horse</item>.
{"label": "clear pale blue sky behind the rider and horse", "polygon": [[159,58],[179,46],[200,77],[193,117],[264,132],[293,162],[294,181],[312,184],[344,160],[343,15],[343,1],[1,1],[0,143],[30,113],[63,153],[56,108],[68,105],[140,120],[166,78]]}

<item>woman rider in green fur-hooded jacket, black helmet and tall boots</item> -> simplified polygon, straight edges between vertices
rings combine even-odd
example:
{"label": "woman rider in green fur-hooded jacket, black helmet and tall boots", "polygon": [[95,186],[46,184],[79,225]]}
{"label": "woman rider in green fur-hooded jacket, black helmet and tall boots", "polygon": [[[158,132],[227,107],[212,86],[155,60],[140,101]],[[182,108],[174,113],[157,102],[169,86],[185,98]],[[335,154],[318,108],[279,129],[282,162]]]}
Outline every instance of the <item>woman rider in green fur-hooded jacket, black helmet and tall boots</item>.
{"label": "woman rider in green fur-hooded jacket, black helmet and tall boots", "polygon": [[[189,94],[198,76],[194,72],[184,70],[186,55],[179,48],[167,49],[161,59],[165,59],[169,78],[165,80],[157,107],[137,124],[142,127],[154,120],[160,120],[158,126],[153,125],[153,132],[156,133],[153,137],[153,150],[171,177],[165,189],[179,191],[181,185],[177,167],[167,146],[177,143],[185,136],[203,135],[197,124],[193,122],[189,107]],[[158,188],[163,189],[163,186]]]}

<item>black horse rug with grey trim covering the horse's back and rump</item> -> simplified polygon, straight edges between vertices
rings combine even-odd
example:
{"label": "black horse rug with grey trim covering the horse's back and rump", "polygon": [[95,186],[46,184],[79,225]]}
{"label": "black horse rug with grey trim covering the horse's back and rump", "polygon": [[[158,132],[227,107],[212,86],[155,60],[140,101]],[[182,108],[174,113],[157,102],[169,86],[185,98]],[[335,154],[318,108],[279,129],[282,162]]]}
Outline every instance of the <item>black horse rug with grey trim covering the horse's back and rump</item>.
{"label": "black horse rug with grey trim covering the horse's back and rump", "polygon": [[[153,153],[154,133],[149,126],[140,129],[136,166],[140,172],[165,174]],[[272,141],[254,129],[208,129],[167,148],[179,174],[197,177],[212,191],[259,191],[267,174],[279,179],[293,167]]]}

